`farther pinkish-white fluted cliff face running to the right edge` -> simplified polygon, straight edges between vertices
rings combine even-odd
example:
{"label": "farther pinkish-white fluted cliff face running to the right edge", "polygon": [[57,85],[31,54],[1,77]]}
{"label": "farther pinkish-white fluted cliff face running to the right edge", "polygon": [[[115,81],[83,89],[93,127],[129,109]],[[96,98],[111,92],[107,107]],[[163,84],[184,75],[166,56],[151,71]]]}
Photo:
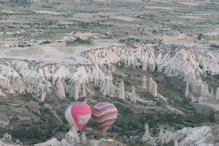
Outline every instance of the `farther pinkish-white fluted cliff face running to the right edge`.
{"label": "farther pinkish-white fluted cliff face running to the right edge", "polygon": [[199,48],[168,48],[167,46],[113,46],[85,52],[85,56],[101,64],[124,62],[127,66],[142,66],[168,76],[201,81],[200,75],[219,73],[217,50]]}

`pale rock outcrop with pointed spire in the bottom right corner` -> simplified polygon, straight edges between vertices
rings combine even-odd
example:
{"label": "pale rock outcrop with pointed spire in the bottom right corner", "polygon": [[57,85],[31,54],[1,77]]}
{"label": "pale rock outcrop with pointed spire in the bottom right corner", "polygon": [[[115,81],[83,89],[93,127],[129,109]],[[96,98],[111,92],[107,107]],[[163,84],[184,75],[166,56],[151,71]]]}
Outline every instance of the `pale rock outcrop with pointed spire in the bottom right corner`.
{"label": "pale rock outcrop with pointed spire in the bottom right corner", "polygon": [[[149,145],[165,145],[174,142],[174,146],[185,146],[185,145],[218,145],[219,142],[216,140],[217,134],[214,134],[213,130],[216,127],[195,127],[195,128],[183,128],[176,132],[166,130],[164,133],[161,129],[158,137],[151,137],[148,129],[148,125],[145,126],[145,134],[142,137],[142,141]],[[213,133],[213,134],[211,134]],[[211,139],[211,141],[208,141]]]}

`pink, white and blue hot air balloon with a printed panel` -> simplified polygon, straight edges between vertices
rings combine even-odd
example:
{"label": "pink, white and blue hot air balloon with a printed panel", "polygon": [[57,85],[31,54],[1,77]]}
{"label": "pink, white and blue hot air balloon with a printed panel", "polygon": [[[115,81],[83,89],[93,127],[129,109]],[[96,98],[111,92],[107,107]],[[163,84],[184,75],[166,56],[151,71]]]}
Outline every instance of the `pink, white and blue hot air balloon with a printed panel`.
{"label": "pink, white and blue hot air balloon with a printed panel", "polygon": [[91,108],[86,102],[71,102],[65,108],[65,118],[77,131],[84,128],[91,117]]}

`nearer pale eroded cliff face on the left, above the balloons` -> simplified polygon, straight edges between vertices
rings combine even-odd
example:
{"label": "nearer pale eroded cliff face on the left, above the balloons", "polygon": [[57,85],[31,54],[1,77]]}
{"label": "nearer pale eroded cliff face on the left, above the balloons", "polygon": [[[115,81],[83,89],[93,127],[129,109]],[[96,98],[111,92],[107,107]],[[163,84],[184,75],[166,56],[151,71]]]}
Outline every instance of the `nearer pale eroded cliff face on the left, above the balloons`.
{"label": "nearer pale eroded cliff face on the left, above the balloons", "polygon": [[[100,86],[110,74],[97,65],[44,64],[21,60],[2,60],[0,63],[1,96],[32,94],[44,100],[55,89],[60,98],[73,97],[74,85],[93,83]],[[76,82],[77,81],[77,82]],[[79,88],[79,92],[82,92]]]}

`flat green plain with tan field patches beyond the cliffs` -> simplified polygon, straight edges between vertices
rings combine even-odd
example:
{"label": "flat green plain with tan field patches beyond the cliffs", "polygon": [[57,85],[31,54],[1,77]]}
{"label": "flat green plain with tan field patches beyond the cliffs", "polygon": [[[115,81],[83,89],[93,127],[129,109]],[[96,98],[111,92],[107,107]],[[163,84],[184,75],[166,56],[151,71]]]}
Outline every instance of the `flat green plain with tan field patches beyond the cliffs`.
{"label": "flat green plain with tan field patches beyond the cliffs", "polygon": [[[54,40],[73,31],[77,37],[93,39],[94,35],[104,36],[110,33],[111,36],[104,37],[106,41],[112,37],[119,41],[124,37],[135,36],[141,38],[142,43],[147,40],[156,43],[157,36],[165,36],[159,37],[163,40],[174,35],[175,39],[167,39],[174,42],[182,39],[180,33],[183,32],[191,38],[184,39],[185,43],[208,43],[216,40],[210,32],[218,24],[218,8],[219,3],[209,1],[124,0],[75,4],[63,1],[62,4],[33,3],[28,7],[7,4],[1,10],[0,22],[3,28],[10,25],[7,28],[10,32],[23,27],[22,35],[33,33],[30,30],[36,28],[41,32],[35,36],[36,39],[44,37]],[[157,33],[153,33],[153,30]],[[199,33],[206,37],[198,40],[196,35]]]}

